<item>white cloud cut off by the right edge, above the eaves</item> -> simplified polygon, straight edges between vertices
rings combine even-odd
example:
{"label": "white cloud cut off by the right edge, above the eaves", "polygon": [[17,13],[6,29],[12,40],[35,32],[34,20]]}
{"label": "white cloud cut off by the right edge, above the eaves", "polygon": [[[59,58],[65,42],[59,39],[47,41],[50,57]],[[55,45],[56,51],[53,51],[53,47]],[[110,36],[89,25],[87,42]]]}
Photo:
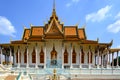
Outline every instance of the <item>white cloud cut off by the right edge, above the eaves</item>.
{"label": "white cloud cut off by the right edge, above the eaves", "polygon": [[113,24],[110,24],[108,27],[107,27],[107,30],[109,32],[113,32],[113,33],[118,33],[120,32],[120,19],[117,20],[116,22],[114,22]]}

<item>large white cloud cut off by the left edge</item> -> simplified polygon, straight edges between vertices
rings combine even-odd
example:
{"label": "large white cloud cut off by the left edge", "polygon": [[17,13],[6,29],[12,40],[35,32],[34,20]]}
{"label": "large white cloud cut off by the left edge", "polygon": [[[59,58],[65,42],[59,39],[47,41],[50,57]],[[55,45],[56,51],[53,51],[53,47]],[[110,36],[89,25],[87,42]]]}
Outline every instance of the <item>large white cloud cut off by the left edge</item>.
{"label": "large white cloud cut off by the left edge", "polygon": [[16,31],[12,23],[6,17],[0,16],[0,34],[14,37],[14,33]]}

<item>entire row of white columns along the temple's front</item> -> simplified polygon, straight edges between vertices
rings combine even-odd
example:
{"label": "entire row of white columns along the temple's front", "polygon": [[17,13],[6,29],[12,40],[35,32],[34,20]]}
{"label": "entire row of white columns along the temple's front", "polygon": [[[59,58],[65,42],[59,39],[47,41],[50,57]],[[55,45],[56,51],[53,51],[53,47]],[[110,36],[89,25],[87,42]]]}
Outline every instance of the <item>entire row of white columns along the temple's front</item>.
{"label": "entire row of white columns along the temple's front", "polygon": [[[26,45],[26,50],[27,50],[27,63],[26,63],[26,68],[29,68],[29,50],[28,50],[28,45]],[[3,54],[3,47],[1,46],[0,47],[0,54]],[[12,62],[12,48],[9,47],[9,50],[10,50],[10,62]],[[62,44],[62,68],[64,68],[64,44]],[[38,56],[38,45],[36,44],[35,46],[35,51],[36,51],[36,63],[35,63],[35,68],[38,68],[38,60],[37,60],[37,56]],[[70,68],[73,68],[72,66],[72,52],[73,52],[73,46],[71,44],[71,51],[70,51]],[[90,60],[91,60],[91,56],[90,56],[90,52],[91,52],[91,49],[89,48],[88,50],[88,68],[91,68],[91,64],[92,65],[95,65],[96,64],[96,67],[97,68],[109,68],[109,67],[114,67],[114,53],[115,52],[112,52],[108,49],[106,49],[105,51],[103,52],[100,52],[100,50],[98,49],[97,50],[97,53],[96,53],[96,56],[97,56],[97,59],[96,57],[94,56],[94,59],[95,59],[95,64],[93,63],[90,63]],[[116,51],[117,52],[117,67],[119,67],[119,51]],[[111,55],[112,54],[112,61],[111,60]],[[18,46],[18,64],[17,64],[17,67],[19,68],[20,67],[20,46]],[[105,56],[106,56],[106,59],[105,59]],[[3,60],[2,60],[2,55],[0,56],[1,57],[1,63],[3,63]],[[15,57],[15,56],[14,56]],[[44,44],[44,57],[46,57],[46,44]],[[100,59],[101,58],[101,59]],[[92,59],[93,60],[93,59]],[[101,60],[101,61],[100,61]],[[105,63],[105,60],[106,60],[106,65],[104,65]],[[79,68],[83,68],[82,65],[84,63],[81,62],[82,61],[82,48],[80,46],[80,52],[79,52]],[[101,63],[100,63],[101,62]],[[112,62],[112,66],[111,66],[111,63]],[[44,58],[44,68],[46,68],[46,58]]]}

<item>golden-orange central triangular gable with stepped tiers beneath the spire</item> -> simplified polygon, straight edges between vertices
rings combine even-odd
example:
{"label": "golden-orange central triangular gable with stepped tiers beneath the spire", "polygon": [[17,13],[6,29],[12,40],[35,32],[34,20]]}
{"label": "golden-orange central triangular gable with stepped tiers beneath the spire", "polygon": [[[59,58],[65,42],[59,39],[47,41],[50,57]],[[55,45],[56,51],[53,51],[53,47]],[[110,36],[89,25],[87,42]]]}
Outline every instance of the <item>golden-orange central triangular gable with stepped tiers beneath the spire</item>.
{"label": "golden-orange central triangular gable with stepped tiers beneath the spire", "polygon": [[45,38],[62,38],[63,37],[63,25],[60,24],[58,17],[56,15],[55,10],[53,10],[52,16],[50,17],[50,21],[47,24],[47,29],[45,31]]}

